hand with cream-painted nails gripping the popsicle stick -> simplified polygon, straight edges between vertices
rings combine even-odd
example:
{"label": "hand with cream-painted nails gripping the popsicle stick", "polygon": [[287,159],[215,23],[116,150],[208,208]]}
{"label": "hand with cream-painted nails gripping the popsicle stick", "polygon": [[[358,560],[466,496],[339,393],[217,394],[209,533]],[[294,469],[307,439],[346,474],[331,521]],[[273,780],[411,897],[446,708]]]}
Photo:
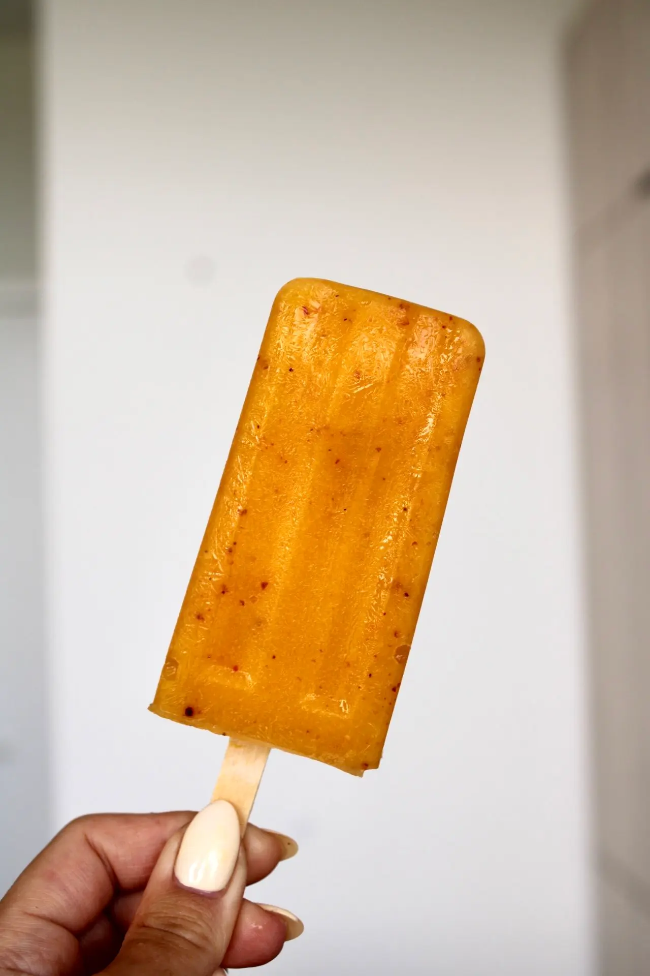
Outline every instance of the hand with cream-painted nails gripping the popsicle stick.
{"label": "hand with cream-painted nails gripping the popsicle stick", "polygon": [[244,888],[297,847],[249,826],[241,847],[235,830],[225,854],[205,849],[213,806],[194,820],[102,814],[65,827],[0,901],[0,976],[214,976],[277,956],[302,924]]}

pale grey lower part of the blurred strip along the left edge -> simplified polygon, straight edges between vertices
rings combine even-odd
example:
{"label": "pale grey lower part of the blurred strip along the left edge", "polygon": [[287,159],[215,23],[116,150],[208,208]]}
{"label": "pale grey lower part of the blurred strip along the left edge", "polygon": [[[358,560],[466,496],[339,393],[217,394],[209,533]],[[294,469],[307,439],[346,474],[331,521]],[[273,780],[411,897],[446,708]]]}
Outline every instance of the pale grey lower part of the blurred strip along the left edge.
{"label": "pale grey lower part of the blurred strip along the left edge", "polygon": [[49,840],[38,328],[0,280],[0,897]]}

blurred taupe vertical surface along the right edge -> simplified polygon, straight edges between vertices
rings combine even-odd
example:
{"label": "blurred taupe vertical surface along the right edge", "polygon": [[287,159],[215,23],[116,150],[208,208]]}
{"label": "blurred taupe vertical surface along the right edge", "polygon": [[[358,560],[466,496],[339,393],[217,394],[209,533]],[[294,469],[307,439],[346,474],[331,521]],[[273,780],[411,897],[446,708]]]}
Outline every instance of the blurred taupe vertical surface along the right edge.
{"label": "blurred taupe vertical surface along the right edge", "polygon": [[603,976],[650,972],[650,3],[568,45]]}

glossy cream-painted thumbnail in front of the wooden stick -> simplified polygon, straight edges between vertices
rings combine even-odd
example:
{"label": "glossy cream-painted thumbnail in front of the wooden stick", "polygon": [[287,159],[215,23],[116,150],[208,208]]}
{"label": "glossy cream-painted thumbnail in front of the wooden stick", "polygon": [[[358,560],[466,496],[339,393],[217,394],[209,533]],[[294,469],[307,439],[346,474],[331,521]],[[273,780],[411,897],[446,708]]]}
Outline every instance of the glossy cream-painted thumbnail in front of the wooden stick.
{"label": "glossy cream-painted thumbnail in front of the wooden stick", "polygon": [[217,799],[197,813],[183,835],[173,873],[186,888],[222,891],[232,877],[240,848],[235,807]]}

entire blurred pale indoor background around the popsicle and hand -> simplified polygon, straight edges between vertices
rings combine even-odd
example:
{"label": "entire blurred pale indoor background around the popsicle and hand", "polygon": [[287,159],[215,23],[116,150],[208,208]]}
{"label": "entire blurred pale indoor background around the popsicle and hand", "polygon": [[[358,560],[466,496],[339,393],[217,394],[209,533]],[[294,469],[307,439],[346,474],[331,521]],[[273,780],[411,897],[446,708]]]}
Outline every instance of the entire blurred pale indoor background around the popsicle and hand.
{"label": "entire blurred pale indoor background around the popsicle and hand", "polygon": [[650,0],[0,0],[0,891],[210,796],[146,707],[298,275],[487,363],[381,769],[272,754],[268,971],[647,976]]}

